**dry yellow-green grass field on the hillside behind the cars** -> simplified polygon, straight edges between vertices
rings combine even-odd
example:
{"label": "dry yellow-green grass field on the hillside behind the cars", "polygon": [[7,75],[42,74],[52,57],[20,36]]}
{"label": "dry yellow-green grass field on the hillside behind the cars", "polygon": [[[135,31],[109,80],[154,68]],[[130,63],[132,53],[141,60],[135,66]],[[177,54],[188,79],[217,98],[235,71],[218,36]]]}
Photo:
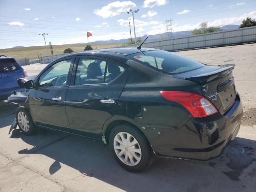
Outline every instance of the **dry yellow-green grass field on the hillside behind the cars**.
{"label": "dry yellow-green grass field on the hillside behind the cars", "polygon": [[[52,46],[53,53],[56,54],[63,54],[63,51],[66,48],[71,48],[74,52],[84,51],[84,47],[87,44],[79,44],[79,45],[54,45]],[[122,46],[122,43],[106,43],[106,44],[90,44],[93,49],[102,49],[102,48],[111,48],[116,46]],[[50,47],[47,46],[48,54],[46,54],[45,46],[33,46],[33,47],[22,47],[22,48],[9,48],[9,49],[0,49],[0,55],[4,54],[10,57],[14,57],[15,59],[19,58],[29,58],[34,59],[38,58],[37,54],[42,54],[42,56],[50,55]]]}

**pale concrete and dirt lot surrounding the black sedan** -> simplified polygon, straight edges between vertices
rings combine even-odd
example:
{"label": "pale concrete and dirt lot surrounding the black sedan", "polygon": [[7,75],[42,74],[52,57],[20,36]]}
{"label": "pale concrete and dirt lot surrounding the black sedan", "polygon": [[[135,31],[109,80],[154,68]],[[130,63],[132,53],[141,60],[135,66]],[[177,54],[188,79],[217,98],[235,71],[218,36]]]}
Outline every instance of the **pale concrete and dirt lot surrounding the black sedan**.
{"label": "pale concrete and dirt lot surrounding the black sedan", "polygon": [[[108,147],[79,136],[8,131],[16,104],[0,102],[0,192],[256,192],[256,44],[176,52],[206,64],[234,63],[244,105],[240,131],[209,161],[156,158],[140,173],[123,170]],[[44,65],[24,66],[29,75]]]}

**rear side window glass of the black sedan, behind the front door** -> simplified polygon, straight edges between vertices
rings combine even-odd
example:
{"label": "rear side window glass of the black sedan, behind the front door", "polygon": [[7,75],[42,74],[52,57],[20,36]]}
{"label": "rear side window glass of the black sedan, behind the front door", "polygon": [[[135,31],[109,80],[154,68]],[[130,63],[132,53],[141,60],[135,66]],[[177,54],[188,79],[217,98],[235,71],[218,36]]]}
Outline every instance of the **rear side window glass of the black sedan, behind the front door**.
{"label": "rear side window glass of the black sedan, behind the front door", "polygon": [[114,62],[80,58],[76,70],[75,85],[108,83],[118,77],[125,68]]}

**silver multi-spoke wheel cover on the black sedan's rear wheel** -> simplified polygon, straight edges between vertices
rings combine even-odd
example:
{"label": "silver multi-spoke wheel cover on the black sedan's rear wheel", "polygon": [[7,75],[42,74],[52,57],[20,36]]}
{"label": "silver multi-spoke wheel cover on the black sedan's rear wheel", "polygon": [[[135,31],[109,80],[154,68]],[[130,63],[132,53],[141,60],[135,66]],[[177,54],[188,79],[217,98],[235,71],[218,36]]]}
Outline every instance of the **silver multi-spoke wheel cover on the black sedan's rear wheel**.
{"label": "silver multi-spoke wheel cover on the black sedan's rear wheel", "polygon": [[114,138],[116,156],[124,164],[135,166],[139,164],[142,156],[139,142],[127,132],[119,132]]}

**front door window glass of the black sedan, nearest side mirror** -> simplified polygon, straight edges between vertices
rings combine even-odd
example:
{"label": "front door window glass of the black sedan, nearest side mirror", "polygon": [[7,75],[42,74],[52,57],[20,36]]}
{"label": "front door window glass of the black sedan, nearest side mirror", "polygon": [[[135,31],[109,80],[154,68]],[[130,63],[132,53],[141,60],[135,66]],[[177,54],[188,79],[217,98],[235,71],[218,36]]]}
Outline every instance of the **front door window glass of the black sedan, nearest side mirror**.
{"label": "front door window glass of the black sedan, nearest side mirror", "polygon": [[38,87],[65,86],[72,59],[60,61],[48,68],[39,78]]}

